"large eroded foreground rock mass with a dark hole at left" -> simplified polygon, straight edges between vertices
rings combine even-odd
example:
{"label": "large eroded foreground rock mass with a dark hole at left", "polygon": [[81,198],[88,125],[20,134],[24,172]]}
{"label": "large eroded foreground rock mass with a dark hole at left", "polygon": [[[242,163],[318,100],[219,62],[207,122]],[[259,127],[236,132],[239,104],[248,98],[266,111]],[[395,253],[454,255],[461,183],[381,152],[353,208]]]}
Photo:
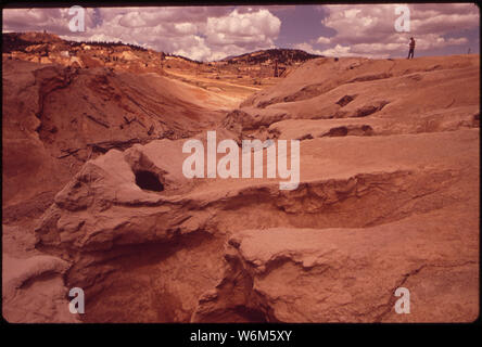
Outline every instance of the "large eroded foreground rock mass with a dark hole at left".
{"label": "large eroded foreground rock mass with a dark hole at left", "polygon": [[[396,320],[393,290],[420,267],[473,279],[478,131],[350,138],[303,141],[295,191],[267,179],[188,180],[182,141],[110,151],[55,196],[37,248],[72,262],[66,286],[86,291],[91,322]],[[163,190],[141,189],[139,170]],[[253,218],[237,222],[243,216]],[[432,297],[447,282],[430,273]],[[413,282],[424,312],[414,320],[470,321],[475,284],[461,284],[472,294],[453,316],[452,304],[431,311]],[[136,305],[116,309],[124,300]]]}

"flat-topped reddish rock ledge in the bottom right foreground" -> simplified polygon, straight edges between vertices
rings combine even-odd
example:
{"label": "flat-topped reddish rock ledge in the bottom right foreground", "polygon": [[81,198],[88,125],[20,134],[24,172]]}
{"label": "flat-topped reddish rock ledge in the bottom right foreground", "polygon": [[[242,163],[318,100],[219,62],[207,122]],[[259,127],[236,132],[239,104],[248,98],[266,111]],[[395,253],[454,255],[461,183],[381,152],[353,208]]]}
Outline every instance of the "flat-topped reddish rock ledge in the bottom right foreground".
{"label": "flat-topped reddish rock ledge in the bottom right foreground", "polygon": [[[458,205],[364,229],[243,231],[229,240],[225,275],[193,321],[472,322],[477,228],[477,213]],[[410,314],[393,309],[398,287],[411,293]]]}

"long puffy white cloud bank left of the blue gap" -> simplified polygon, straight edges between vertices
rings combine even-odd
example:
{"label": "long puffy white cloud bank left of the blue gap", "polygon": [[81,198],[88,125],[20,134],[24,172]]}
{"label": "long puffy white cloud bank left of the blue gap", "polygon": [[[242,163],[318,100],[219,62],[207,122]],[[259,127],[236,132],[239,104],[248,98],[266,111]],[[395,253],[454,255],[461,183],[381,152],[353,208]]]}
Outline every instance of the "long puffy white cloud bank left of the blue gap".
{"label": "long puffy white cloud bank left of the blue gap", "polygon": [[4,30],[43,30],[64,39],[123,41],[193,60],[274,48],[281,22],[263,8],[87,9],[86,31],[71,33],[68,9],[7,9]]}

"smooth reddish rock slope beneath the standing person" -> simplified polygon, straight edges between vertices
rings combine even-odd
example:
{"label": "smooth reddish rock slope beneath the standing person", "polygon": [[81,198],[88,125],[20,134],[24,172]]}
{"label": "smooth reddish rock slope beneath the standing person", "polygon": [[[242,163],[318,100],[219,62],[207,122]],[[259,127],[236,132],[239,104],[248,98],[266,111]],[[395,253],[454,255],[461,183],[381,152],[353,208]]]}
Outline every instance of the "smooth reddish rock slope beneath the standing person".
{"label": "smooth reddish rock slope beneath the standing person", "polygon": [[[478,72],[478,56],[470,55],[413,62],[319,57],[253,94],[236,113],[244,115],[240,124],[245,136],[253,132],[254,121],[246,125],[244,119],[263,119],[269,127],[286,119],[300,119],[302,126],[306,119],[347,118],[350,124],[363,117],[369,126],[371,120],[383,121],[382,133],[477,127]],[[461,85],[468,88],[460,89]]]}

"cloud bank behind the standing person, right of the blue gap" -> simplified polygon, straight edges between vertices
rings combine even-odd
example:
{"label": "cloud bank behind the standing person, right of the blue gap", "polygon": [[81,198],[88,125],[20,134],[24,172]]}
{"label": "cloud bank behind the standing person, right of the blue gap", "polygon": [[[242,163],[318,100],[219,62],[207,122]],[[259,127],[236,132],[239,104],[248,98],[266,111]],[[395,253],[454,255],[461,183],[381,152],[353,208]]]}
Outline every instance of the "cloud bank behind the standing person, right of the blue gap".
{"label": "cloud bank behind the standing person, right of the blue gap", "polygon": [[[335,35],[317,43],[330,43],[325,55],[386,57],[405,54],[410,36],[416,50],[427,51],[467,44],[465,30],[479,26],[479,10],[470,3],[408,4],[410,31],[398,33],[394,24],[397,4],[324,5],[322,24]],[[458,37],[448,37],[458,36]]]}

